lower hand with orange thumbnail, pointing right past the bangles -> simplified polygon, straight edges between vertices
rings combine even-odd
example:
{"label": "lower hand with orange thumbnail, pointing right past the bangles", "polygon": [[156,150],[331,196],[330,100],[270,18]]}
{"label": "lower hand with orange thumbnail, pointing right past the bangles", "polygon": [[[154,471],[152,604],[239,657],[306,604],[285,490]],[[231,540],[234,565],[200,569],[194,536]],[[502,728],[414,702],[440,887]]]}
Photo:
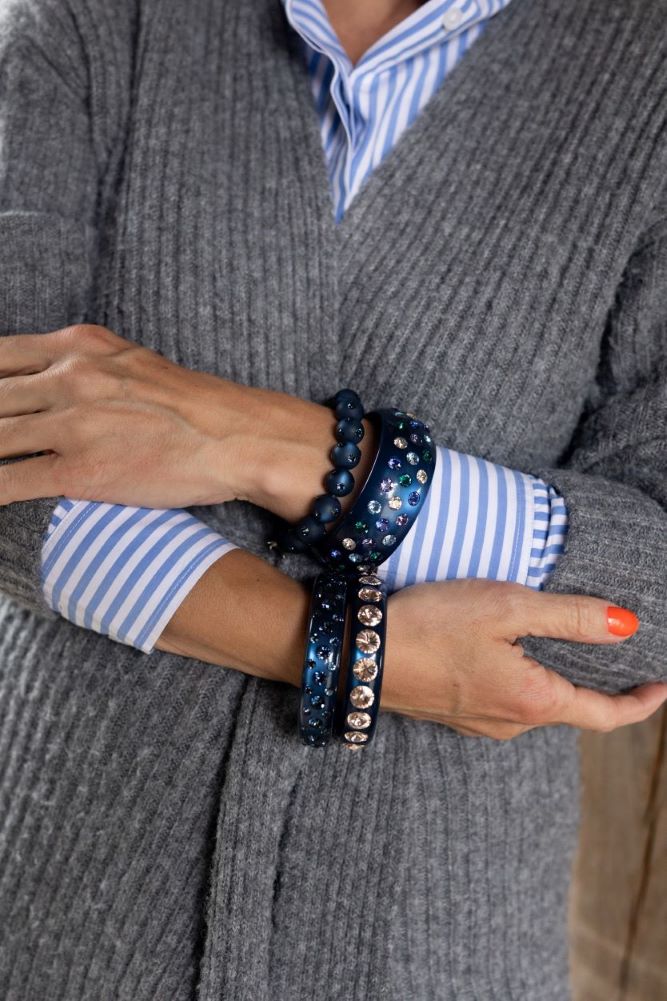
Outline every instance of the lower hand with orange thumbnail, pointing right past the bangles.
{"label": "lower hand with orange thumbnail, pointing right past the bangles", "polygon": [[667,684],[621,695],[579,688],[517,643],[621,643],[636,631],[632,615],[618,636],[609,608],[601,598],[477,579],[403,588],[389,599],[381,709],[496,740],[552,724],[609,731],[638,723],[667,698]]}

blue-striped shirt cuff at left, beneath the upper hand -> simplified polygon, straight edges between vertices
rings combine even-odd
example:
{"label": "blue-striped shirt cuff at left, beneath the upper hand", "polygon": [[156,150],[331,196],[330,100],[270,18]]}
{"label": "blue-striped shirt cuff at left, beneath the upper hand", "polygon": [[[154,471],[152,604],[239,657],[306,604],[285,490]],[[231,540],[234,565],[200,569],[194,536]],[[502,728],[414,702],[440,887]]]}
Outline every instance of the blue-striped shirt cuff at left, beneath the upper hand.
{"label": "blue-striped shirt cuff at left, beneath the upper hand", "polygon": [[238,549],[180,509],[64,497],[42,545],[49,607],[146,654],[204,572]]}

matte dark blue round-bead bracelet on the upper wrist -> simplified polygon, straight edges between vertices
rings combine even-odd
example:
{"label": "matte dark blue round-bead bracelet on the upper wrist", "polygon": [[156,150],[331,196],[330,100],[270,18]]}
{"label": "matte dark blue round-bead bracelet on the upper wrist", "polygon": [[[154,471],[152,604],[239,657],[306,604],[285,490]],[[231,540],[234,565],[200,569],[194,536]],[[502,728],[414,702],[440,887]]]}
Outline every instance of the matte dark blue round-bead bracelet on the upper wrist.
{"label": "matte dark blue round-bead bracelet on the upper wrist", "polygon": [[313,543],[324,537],[324,526],[340,518],[342,509],[338,498],[347,496],[355,488],[351,469],[362,457],[358,443],[365,434],[364,406],[355,390],[348,388],[339,389],[326,402],[338,418],[336,444],[329,451],[333,468],[324,477],[326,493],[314,498],[309,515],[295,525],[281,525],[275,533],[276,539],[267,541],[270,548],[277,547],[282,553],[308,553]]}

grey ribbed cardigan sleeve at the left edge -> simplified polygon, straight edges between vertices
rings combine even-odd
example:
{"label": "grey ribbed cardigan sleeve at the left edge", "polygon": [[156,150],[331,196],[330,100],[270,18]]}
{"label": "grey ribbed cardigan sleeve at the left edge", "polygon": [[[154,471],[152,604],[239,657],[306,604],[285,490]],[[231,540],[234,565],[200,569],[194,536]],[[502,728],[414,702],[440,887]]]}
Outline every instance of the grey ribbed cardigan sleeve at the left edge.
{"label": "grey ribbed cardigan sleeve at the left edge", "polygon": [[[86,65],[65,2],[0,5],[0,335],[86,318],[98,186]],[[0,507],[0,589],[51,619],[40,558],[57,500]]]}

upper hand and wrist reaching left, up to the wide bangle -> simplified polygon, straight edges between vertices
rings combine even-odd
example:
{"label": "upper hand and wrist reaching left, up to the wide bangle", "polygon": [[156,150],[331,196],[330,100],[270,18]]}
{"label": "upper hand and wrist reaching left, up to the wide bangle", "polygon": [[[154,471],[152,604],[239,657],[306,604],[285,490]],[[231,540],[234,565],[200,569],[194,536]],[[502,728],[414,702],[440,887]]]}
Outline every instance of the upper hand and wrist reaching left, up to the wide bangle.
{"label": "upper hand and wrist reaching left, up to the wide bangle", "polygon": [[184,368],[97,324],[0,337],[0,459],[31,456],[0,463],[0,506],[243,499],[291,521],[323,488],[335,423],[327,406]]}

